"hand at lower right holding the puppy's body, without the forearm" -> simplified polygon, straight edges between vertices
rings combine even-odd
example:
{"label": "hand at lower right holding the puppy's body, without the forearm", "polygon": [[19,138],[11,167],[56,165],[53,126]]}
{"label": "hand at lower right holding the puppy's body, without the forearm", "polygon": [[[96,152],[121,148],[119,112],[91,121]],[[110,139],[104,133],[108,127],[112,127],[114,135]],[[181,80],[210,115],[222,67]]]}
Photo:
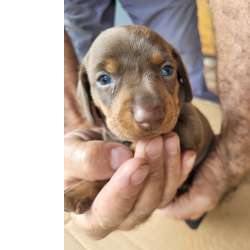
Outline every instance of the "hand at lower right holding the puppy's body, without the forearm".
{"label": "hand at lower right holding the puppy's body, without the forearm", "polygon": [[[249,171],[249,156],[246,156],[243,150],[241,160],[229,157],[226,152],[228,150],[225,150],[223,140],[216,138],[189,191],[169,203],[162,212],[176,219],[195,220],[216,208]],[[233,167],[227,161],[230,161]]]}

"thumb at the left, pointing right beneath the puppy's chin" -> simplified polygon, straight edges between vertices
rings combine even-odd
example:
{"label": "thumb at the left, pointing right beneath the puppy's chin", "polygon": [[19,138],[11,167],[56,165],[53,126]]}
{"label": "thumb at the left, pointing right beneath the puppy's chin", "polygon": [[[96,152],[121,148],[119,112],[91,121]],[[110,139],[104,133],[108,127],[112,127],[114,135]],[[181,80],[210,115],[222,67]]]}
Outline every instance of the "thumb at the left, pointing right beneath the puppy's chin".
{"label": "thumb at the left, pointing right beneath the puppy's chin", "polygon": [[103,180],[110,178],[122,163],[132,158],[130,149],[119,143],[84,141],[66,137],[64,143],[65,179]]}

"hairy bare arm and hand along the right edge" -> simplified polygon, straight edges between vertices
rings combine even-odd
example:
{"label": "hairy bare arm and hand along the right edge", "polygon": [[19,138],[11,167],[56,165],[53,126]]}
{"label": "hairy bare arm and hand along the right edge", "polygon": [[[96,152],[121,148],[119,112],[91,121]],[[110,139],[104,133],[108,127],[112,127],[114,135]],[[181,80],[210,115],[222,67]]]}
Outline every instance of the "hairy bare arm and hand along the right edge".
{"label": "hairy bare arm and hand along the right edge", "polygon": [[250,172],[249,1],[211,0],[218,51],[222,131],[189,193],[165,211],[198,218],[214,209]]}

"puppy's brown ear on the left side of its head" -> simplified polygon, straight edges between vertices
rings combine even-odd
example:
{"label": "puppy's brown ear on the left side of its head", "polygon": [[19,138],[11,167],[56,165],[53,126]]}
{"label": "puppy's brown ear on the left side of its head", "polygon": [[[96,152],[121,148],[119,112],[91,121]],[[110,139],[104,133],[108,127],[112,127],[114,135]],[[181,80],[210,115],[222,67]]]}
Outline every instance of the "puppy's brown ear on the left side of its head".
{"label": "puppy's brown ear on the left side of its head", "polygon": [[88,75],[84,64],[80,66],[78,76],[77,100],[82,116],[90,123],[90,125],[94,125],[94,105],[91,98]]}

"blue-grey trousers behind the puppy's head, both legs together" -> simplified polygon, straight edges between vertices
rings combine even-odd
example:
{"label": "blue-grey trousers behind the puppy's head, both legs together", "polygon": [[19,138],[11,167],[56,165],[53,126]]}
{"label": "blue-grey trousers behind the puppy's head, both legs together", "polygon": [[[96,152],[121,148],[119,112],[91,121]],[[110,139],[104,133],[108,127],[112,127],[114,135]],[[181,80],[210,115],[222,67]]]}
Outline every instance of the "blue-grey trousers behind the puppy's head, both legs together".
{"label": "blue-grey trousers behind the puppy's head, both legs together", "polygon": [[[180,53],[193,95],[218,101],[208,91],[195,0],[119,0],[133,23],[158,32]],[[65,28],[81,61],[96,36],[114,25],[115,0],[64,0]]]}

